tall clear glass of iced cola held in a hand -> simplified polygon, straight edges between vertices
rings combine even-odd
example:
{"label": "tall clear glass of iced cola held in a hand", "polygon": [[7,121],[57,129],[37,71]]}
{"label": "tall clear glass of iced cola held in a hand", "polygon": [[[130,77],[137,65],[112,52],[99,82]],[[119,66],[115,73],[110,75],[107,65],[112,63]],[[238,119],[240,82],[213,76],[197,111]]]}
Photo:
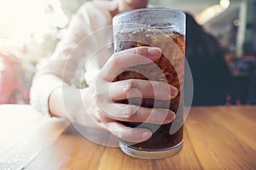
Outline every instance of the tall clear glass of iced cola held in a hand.
{"label": "tall clear glass of iced cola held in a hand", "polygon": [[154,63],[128,68],[115,81],[160,81],[178,89],[177,97],[168,101],[138,98],[120,101],[148,108],[167,108],[176,114],[175,120],[169,124],[123,122],[129,127],[148,128],[153,136],[137,144],[120,139],[121,150],[144,159],[160,159],[177,154],[183,147],[185,14],[172,8],[140,8],[118,14],[113,17],[113,40],[115,52],[139,46],[159,47],[162,50],[160,59]]}

